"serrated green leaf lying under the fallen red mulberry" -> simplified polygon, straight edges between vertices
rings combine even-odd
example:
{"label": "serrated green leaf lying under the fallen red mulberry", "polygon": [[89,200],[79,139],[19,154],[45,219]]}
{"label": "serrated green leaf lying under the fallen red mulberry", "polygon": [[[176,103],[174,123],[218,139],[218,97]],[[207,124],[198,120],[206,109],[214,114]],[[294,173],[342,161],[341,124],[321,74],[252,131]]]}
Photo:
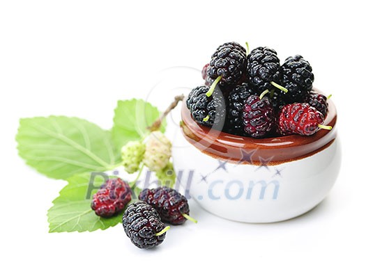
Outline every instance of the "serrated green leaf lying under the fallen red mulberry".
{"label": "serrated green leaf lying under the fallen red mulberry", "polygon": [[[111,177],[109,177],[111,178]],[[107,229],[122,222],[123,213],[112,218],[100,218],[91,209],[91,198],[105,179],[102,176],[77,175],[68,179],[68,185],[61,191],[52,203],[47,216],[49,232],[93,232],[97,229]],[[90,197],[88,188],[92,186]],[[135,188],[138,196],[140,189]]]}

